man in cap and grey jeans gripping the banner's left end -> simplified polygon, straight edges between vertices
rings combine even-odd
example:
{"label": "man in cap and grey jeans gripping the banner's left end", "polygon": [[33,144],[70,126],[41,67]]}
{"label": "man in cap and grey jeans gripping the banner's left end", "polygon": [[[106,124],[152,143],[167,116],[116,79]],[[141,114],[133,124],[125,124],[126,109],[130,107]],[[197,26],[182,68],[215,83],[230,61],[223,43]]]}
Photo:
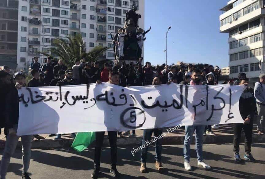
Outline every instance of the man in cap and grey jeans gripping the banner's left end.
{"label": "man in cap and grey jeans gripping the banner's left end", "polygon": [[22,156],[23,156],[23,169],[22,169],[22,179],[30,179],[28,175],[29,162],[30,162],[30,149],[32,143],[32,135],[17,136],[17,126],[18,126],[18,115],[19,115],[19,100],[18,91],[21,87],[25,87],[25,75],[21,72],[17,72],[13,76],[15,86],[13,86],[6,96],[5,105],[5,123],[6,128],[8,128],[8,134],[6,136],[6,145],[2,155],[1,167],[0,167],[0,177],[1,179],[6,178],[6,172],[10,163],[10,157],[15,152],[17,147],[17,141],[21,137],[22,144]]}

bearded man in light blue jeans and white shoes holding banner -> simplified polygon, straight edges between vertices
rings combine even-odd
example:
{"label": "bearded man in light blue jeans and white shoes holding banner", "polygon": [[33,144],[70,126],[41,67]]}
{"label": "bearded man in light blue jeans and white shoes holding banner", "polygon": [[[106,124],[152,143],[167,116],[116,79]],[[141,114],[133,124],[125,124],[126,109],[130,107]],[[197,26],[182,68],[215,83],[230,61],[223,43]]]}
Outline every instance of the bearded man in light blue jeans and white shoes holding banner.
{"label": "bearded man in light blue jeans and white shoes holding banner", "polygon": [[[198,69],[192,71],[191,81],[188,85],[202,85],[201,82],[201,72]],[[202,157],[202,143],[203,143],[203,133],[205,126],[185,126],[185,140],[184,140],[184,167],[186,170],[191,170],[190,166],[190,143],[192,141],[193,133],[195,131],[196,137],[196,152],[198,158],[198,166],[202,166],[205,169],[210,169],[211,167],[204,163]]]}

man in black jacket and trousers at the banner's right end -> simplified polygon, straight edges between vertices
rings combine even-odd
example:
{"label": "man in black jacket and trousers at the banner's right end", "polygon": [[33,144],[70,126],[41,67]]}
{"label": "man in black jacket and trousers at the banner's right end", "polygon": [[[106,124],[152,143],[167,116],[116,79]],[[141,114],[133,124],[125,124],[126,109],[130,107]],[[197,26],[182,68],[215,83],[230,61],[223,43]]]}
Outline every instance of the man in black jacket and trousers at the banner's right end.
{"label": "man in black jacket and trousers at the banner's right end", "polygon": [[[242,78],[239,80],[239,85],[248,86],[248,78]],[[244,129],[245,133],[245,152],[244,159],[255,162],[251,152],[251,143],[252,143],[252,128],[253,128],[253,115],[255,111],[255,98],[252,93],[246,90],[242,93],[239,100],[239,111],[240,115],[244,120],[244,123],[235,123],[234,124],[234,159],[236,162],[241,162],[239,155],[239,143],[241,137],[241,131]]]}

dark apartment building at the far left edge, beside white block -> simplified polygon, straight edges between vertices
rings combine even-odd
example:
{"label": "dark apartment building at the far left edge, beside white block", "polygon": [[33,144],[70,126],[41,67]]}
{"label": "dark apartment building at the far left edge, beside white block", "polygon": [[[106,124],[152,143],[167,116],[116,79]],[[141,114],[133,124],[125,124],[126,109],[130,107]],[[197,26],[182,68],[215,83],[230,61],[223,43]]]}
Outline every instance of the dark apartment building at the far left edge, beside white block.
{"label": "dark apartment building at the far left edge, beside white block", "polygon": [[0,0],[0,66],[17,68],[18,0]]}

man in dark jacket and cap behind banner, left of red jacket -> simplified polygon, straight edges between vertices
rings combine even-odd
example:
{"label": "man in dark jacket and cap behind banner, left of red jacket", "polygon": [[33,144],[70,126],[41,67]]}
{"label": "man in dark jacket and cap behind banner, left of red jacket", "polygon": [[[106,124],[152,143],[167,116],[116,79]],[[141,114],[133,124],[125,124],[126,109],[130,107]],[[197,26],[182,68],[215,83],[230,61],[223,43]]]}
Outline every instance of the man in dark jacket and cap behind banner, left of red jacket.
{"label": "man in dark jacket and cap behind banner, left of red jacket", "polygon": [[[69,85],[78,85],[78,81],[73,79],[73,70],[66,70],[64,79],[57,82],[56,86],[69,86]],[[75,133],[71,134],[71,137],[75,138]],[[54,140],[61,139],[61,134],[57,134]]]}

